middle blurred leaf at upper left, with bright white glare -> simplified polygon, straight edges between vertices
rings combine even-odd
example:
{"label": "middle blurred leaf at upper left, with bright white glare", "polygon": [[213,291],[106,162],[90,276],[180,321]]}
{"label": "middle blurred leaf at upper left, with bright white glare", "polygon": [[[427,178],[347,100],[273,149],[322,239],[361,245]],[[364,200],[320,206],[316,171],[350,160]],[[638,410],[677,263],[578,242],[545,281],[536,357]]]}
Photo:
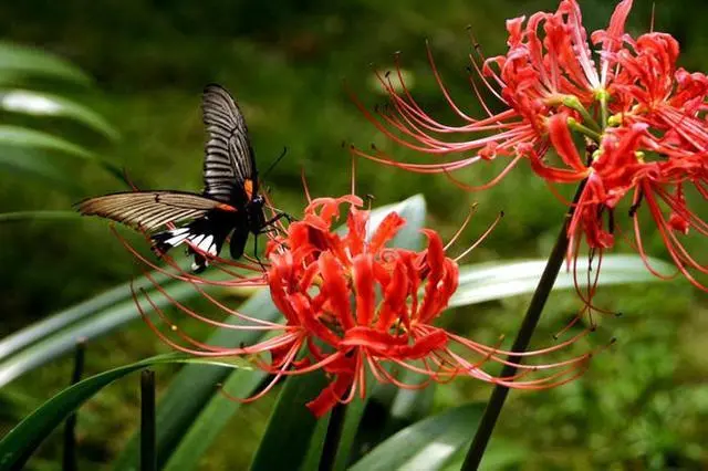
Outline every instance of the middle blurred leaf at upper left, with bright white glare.
{"label": "middle blurred leaf at upper left, with bright white glare", "polygon": [[108,139],[118,138],[117,130],[98,114],[61,96],[29,90],[7,90],[0,92],[0,108],[33,116],[66,117],[103,134]]}

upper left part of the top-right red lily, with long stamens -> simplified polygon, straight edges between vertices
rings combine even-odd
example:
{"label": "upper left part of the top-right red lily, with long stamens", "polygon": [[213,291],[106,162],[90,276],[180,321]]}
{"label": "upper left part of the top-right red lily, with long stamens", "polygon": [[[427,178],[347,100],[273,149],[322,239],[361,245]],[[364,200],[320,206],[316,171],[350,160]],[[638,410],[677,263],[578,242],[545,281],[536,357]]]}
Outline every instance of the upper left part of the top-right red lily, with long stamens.
{"label": "upper left part of the top-right red lily, with long stamens", "polygon": [[[445,100],[464,122],[458,126],[442,124],[423,111],[406,87],[396,57],[397,81],[403,92],[397,92],[388,75],[378,75],[388,93],[391,106],[378,109],[375,115],[358,103],[357,106],[378,129],[408,148],[436,157],[452,153],[475,155],[445,163],[407,164],[382,153],[369,155],[356,148],[353,151],[412,171],[444,172],[456,185],[479,190],[498,184],[523,157],[543,156],[551,145],[548,119],[558,113],[571,114],[580,125],[600,130],[595,116],[607,112],[606,88],[614,76],[616,52],[625,38],[624,23],[631,7],[631,0],[622,1],[607,30],[593,33],[593,44],[601,49],[598,64],[592,57],[575,1],[562,1],[555,13],[535,13],[528,21],[525,17],[509,20],[509,52],[506,55],[485,60],[480,54],[482,63],[470,55],[479,78],[504,107],[493,113],[475,81],[470,80],[487,112],[483,118],[470,117],[452,102],[428,50],[428,59]],[[460,135],[464,139],[450,143],[448,135]],[[468,186],[450,175],[480,159],[499,156],[510,157],[511,161],[487,185]]]}

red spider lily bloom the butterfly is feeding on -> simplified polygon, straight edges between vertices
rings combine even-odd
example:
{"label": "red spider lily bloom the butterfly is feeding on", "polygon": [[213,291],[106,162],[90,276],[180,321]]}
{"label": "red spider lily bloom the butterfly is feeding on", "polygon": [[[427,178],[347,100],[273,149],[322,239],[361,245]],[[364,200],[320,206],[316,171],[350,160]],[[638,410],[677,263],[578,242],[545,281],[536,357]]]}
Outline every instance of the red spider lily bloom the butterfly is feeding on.
{"label": "red spider lily bloom the butterfly is feeding on", "polygon": [[[342,207],[347,209],[342,218],[344,232],[334,229]],[[270,384],[259,394],[237,400],[263,396],[284,376],[323,370],[330,384],[309,402],[317,417],[337,404],[353,400],[357,394],[363,397],[367,378],[420,388],[430,381],[469,376],[513,388],[540,389],[564,384],[586,369],[591,354],[553,364],[517,365],[521,373],[512,377],[487,373],[485,368],[490,362],[510,364],[504,359],[510,353],[433,325],[458,285],[457,261],[446,257],[447,247],[440,237],[425,229],[425,250],[388,248],[387,242],[405,226],[405,219],[391,212],[375,230],[371,230],[369,223],[369,211],[363,209],[358,197],[319,198],[309,203],[301,220],[281,227],[280,233],[271,237],[266,273],[251,264],[254,272],[251,276],[241,273],[238,278],[230,275],[230,281],[218,282],[164,270],[191,283],[219,311],[235,316],[235,322],[216,321],[194,312],[149,278],[174,307],[200,322],[220,328],[271,332],[252,345],[225,347],[191,337],[167,316],[155,295],[144,290],[142,295],[167,328],[143,312],[136,293],[138,308],[160,338],[178,350],[204,357],[244,356],[272,375]],[[219,261],[212,262],[217,268],[220,265]],[[229,308],[204,291],[202,285],[210,283],[268,285],[283,315],[282,322],[268,322]],[[550,348],[517,356],[525,358],[559,350],[587,332]],[[407,384],[400,379],[406,370],[425,375],[427,380]]]}

